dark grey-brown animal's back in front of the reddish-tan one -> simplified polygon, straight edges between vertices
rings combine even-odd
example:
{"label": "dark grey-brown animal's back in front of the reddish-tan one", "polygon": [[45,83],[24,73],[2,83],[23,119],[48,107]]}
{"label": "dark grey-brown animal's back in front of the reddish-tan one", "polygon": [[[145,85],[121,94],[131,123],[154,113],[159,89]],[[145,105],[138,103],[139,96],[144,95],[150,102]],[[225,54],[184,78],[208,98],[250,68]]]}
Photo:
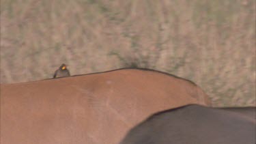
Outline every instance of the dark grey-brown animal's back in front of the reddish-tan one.
{"label": "dark grey-brown animal's back in front of the reddish-tan one", "polygon": [[253,144],[255,115],[255,107],[182,106],[152,115],[132,128],[121,144]]}

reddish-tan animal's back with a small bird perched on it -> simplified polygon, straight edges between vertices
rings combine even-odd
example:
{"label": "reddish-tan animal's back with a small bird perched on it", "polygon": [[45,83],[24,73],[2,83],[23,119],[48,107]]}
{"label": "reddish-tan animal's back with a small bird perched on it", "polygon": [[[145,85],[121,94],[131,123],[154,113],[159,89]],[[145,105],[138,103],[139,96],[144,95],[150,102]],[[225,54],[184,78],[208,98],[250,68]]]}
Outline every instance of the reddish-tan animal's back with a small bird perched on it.
{"label": "reddish-tan animal's back with a small bird perched on it", "polygon": [[1,143],[118,143],[149,115],[210,105],[194,83],[151,70],[113,70],[1,85]]}

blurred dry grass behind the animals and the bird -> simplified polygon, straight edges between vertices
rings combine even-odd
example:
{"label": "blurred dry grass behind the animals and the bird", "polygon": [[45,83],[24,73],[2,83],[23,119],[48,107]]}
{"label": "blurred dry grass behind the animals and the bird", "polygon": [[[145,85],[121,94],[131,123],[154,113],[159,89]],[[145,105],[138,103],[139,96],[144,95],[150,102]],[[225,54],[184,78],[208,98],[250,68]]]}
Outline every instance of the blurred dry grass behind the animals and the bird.
{"label": "blurred dry grass behind the animals and the bird", "polygon": [[255,0],[1,0],[1,83],[150,68],[255,105]]}

